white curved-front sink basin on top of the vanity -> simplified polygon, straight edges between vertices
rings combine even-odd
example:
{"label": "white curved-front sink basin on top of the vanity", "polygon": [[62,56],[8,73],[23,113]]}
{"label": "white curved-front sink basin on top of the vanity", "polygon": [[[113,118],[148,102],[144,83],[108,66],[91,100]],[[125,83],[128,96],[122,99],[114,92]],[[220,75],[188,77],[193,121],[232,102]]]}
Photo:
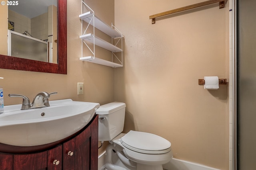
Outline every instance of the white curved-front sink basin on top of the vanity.
{"label": "white curved-front sink basin on top of the vanity", "polygon": [[20,110],[21,104],[4,106],[0,114],[0,143],[37,146],[59,141],[86,126],[98,103],[71,99],[50,101],[49,107]]}

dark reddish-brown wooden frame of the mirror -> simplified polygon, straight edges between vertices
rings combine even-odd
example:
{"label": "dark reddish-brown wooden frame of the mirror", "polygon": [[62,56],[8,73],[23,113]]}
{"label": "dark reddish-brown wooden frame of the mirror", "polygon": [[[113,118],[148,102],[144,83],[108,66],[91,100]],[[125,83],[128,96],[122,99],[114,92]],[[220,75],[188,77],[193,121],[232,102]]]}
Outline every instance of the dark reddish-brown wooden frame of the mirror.
{"label": "dark reddish-brown wooden frame of the mirror", "polygon": [[0,68],[67,74],[67,0],[58,0],[58,64],[0,55]]}

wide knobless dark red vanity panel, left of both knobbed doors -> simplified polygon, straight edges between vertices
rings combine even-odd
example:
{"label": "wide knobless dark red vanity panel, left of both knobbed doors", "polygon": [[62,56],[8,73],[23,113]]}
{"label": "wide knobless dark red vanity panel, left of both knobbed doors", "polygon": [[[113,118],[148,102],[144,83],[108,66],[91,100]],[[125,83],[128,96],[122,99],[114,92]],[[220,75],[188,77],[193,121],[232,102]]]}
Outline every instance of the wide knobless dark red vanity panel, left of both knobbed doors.
{"label": "wide knobless dark red vanity panel, left of both knobbed doors", "polygon": [[13,156],[13,170],[46,170],[47,151]]}

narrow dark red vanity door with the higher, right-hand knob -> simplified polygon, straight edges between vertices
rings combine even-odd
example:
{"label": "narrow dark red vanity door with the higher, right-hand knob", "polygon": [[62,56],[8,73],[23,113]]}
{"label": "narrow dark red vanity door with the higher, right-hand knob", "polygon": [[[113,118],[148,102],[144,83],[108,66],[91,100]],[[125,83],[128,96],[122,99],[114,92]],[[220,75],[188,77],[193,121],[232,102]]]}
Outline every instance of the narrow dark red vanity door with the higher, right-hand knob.
{"label": "narrow dark red vanity door with the higher, right-hand knob", "polygon": [[75,138],[63,144],[63,170],[75,170]]}

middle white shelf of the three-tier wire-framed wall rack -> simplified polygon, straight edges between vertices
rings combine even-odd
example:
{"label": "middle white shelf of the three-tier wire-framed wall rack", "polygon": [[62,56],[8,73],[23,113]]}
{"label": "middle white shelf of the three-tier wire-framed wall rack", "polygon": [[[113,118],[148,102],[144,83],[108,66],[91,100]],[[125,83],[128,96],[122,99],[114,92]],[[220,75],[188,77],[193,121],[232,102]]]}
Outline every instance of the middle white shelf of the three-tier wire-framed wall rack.
{"label": "middle white shelf of the three-tier wire-framed wall rack", "polygon": [[121,52],[122,49],[108,43],[107,41],[91,34],[91,33],[88,33],[88,34],[85,34],[85,35],[80,35],[80,38],[83,39],[84,41],[88,41],[90,43],[93,43],[93,36],[94,36],[94,44],[95,45],[98,45],[104,49],[107,49],[108,51],[112,51],[112,52]]}

